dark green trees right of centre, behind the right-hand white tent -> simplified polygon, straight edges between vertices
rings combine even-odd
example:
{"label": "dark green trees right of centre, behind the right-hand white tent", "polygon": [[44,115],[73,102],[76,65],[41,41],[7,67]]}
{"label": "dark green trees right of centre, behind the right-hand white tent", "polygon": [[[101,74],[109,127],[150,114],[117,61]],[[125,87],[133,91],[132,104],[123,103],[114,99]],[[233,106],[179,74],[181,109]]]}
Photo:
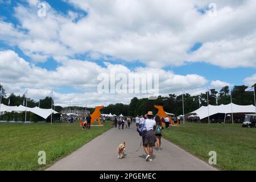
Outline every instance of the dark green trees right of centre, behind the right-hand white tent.
{"label": "dark green trees right of centre, behind the right-hand white tent", "polygon": [[[254,88],[256,84],[254,85]],[[245,89],[248,88],[246,85],[237,85],[231,90],[232,93],[232,102],[237,105],[254,105],[254,95],[253,92],[245,92]],[[221,104],[230,104],[230,87],[224,86],[219,92],[216,89],[210,89],[212,94],[209,95],[209,104],[210,105],[221,105]],[[184,113],[191,113],[196,109],[199,109],[200,106],[207,106],[207,93],[201,93],[197,96],[191,96],[190,94],[184,94]],[[199,98],[201,104],[199,104]],[[217,102],[216,102],[217,100]],[[109,105],[102,109],[104,114],[123,114],[129,116],[144,115],[148,111],[153,111],[154,114],[158,112],[155,109],[154,105],[162,105],[164,110],[168,113],[175,115],[183,114],[182,107],[182,94],[169,94],[168,97],[159,96],[156,100],[148,100],[148,98],[137,98],[134,97],[131,99],[129,105],[125,104],[115,104]]]}

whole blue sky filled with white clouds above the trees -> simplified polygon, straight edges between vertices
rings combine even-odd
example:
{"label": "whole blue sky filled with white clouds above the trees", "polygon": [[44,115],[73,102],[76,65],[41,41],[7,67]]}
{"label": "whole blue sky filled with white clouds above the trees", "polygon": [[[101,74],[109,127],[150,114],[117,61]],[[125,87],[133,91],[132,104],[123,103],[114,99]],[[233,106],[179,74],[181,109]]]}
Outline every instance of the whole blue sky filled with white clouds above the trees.
{"label": "whole blue sky filled with white clouds above the trees", "polygon": [[254,0],[0,0],[0,83],[7,94],[28,89],[38,101],[53,90],[56,105],[90,107],[152,94],[100,92],[113,71],[157,74],[162,96],[251,86],[255,9]]}

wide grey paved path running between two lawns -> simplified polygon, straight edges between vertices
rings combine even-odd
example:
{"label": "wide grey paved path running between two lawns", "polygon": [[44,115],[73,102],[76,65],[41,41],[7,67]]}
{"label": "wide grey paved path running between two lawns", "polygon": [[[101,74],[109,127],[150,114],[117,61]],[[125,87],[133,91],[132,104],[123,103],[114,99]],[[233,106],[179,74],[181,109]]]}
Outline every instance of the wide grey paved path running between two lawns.
{"label": "wide grey paved path running between two lawns", "polygon": [[[133,123],[130,129],[110,129],[71,155],[59,160],[47,170],[216,170],[165,139],[162,139],[162,152],[154,149],[152,162],[146,162],[143,147],[134,154],[127,154],[125,158],[117,159],[117,147],[123,140],[127,142],[128,152],[138,149],[141,137],[139,137],[135,128],[135,123]],[[151,165],[148,165],[149,163]]]}

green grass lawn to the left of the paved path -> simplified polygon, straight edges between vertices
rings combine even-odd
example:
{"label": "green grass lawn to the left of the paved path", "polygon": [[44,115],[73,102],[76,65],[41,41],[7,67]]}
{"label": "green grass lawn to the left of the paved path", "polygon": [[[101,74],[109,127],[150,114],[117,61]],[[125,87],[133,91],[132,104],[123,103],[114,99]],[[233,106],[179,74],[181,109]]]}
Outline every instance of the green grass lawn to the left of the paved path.
{"label": "green grass lawn to the left of the paved path", "polygon": [[[43,170],[57,160],[110,129],[82,130],[79,123],[0,123],[0,171]],[[38,164],[38,152],[46,152],[46,165]]]}

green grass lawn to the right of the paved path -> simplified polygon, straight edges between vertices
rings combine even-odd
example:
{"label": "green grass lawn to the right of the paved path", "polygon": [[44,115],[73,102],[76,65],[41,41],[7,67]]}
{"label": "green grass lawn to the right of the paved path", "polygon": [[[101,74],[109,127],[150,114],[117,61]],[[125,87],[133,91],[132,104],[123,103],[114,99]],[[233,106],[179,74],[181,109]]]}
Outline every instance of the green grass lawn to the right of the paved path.
{"label": "green grass lawn to the right of the paved path", "polygon": [[224,170],[256,170],[256,129],[241,124],[185,123],[164,130],[164,138],[205,162],[217,152],[217,167]]}

